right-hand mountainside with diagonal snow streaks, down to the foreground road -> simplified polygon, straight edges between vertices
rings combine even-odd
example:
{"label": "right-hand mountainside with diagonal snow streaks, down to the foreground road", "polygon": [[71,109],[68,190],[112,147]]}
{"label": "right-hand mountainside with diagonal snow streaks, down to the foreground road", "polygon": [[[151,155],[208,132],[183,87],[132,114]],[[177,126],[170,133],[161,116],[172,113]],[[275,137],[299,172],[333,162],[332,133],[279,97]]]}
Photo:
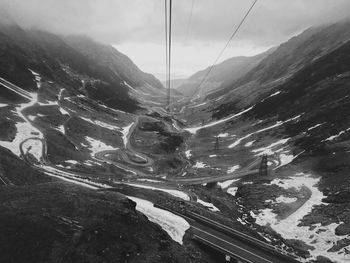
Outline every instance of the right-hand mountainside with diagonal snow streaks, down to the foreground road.
{"label": "right-hand mountainside with diagonal snow streaks, down to the foreground road", "polygon": [[235,196],[238,221],[302,262],[349,259],[349,28],[307,29],[176,115],[201,173],[260,168],[219,185]]}

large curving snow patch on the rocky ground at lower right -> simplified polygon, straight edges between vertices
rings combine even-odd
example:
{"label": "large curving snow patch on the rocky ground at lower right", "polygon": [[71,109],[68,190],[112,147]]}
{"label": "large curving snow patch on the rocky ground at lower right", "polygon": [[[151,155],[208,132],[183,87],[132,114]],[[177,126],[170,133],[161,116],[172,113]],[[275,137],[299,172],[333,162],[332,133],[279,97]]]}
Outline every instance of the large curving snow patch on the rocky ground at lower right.
{"label": "large curving snow patch on the rocky ground at lower right", "polygon": [[327,205],[322,202],[325,196],[317,188],[319,181],[320,178],[314,178],[304,173],[297,173],[296,176],[286,179],[274,179],[267,185],[278,185],[284,189],[295,188],[296,190],[300,190],[303,186],[308,187],[311,190],[309,200],[283,220],[277,220],[276,214],[269,208],[259,210],[258,214],[251,212],[251,216],[256,219],[257,224],[262,226],[270,225],[272,229],[281,234],[285,239],[299,239],[307,245],[314,247],[314,249],[309,250],[312,259],[316,259],[317,256],[325,256],[336,262],[349,262],[350,255],[345,254],[344,248],[337,252],[328,252],[337,241],[345,237],[335,235],[335,228],[339,224],[331,223],[326,226],[313,224],[311,228],[309,226],[298,226],[301,219],[309,214],[314,206],[321,204]]}

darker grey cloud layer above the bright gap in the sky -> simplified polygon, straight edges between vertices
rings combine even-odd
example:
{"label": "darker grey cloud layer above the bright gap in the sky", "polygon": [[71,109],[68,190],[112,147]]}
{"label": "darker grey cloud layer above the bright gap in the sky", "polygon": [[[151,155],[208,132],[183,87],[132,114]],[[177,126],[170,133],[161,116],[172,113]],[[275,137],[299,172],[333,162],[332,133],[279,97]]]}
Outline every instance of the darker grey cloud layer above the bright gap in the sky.
{"label": "darker grey cloud layer above the bright gap in the sky", "polygon": [[[252,1],[194,0],[189,41],[222,42]],[[173,40],[185,43],[191,0],[173,1]],[[59,34],[85,34],[97,40],[164,41],[163,0],[0,0],[24,27]],[[269,46],[306,27],[348,15],[348,0],[259,0],[238,40]]]}

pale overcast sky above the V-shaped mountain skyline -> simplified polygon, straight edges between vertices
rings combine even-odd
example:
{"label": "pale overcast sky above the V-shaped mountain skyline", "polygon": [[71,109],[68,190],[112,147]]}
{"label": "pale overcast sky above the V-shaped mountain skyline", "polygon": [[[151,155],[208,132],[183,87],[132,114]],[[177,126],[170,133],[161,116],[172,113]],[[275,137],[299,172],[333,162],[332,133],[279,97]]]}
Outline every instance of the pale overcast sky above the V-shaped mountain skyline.
{"label": "pale overcast sky above the V-shaped mountain skyline", "polygon": [[[172,77],[209,66],[253,0],[173,0]],[[24,27],[85,34],[164,78],[164,0],[0,0]],[[260,53],[312,25],[350,15],[350,0],[258,0],[223,59]],[[187,34],[188,33],[188,34]]]}

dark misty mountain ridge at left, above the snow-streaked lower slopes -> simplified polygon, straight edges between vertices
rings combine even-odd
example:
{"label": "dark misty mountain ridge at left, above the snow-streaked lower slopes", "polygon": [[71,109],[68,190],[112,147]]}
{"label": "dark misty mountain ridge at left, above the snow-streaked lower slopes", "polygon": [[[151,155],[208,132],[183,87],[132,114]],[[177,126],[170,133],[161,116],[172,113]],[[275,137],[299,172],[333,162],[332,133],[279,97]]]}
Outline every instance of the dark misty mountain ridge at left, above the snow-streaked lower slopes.
{"label": "dark misty mountain ridge at left, above the snow-streaked lower slopes", "polygon": [[138,99],[156,101],[155,96],[165,96],[154,76],[142,72],[114,47],[86,37],[61,37],[3,24],[0,43],[0,75],[29,91],[36,84],[28,68],[115,109],[132,112],[140,109]]}

